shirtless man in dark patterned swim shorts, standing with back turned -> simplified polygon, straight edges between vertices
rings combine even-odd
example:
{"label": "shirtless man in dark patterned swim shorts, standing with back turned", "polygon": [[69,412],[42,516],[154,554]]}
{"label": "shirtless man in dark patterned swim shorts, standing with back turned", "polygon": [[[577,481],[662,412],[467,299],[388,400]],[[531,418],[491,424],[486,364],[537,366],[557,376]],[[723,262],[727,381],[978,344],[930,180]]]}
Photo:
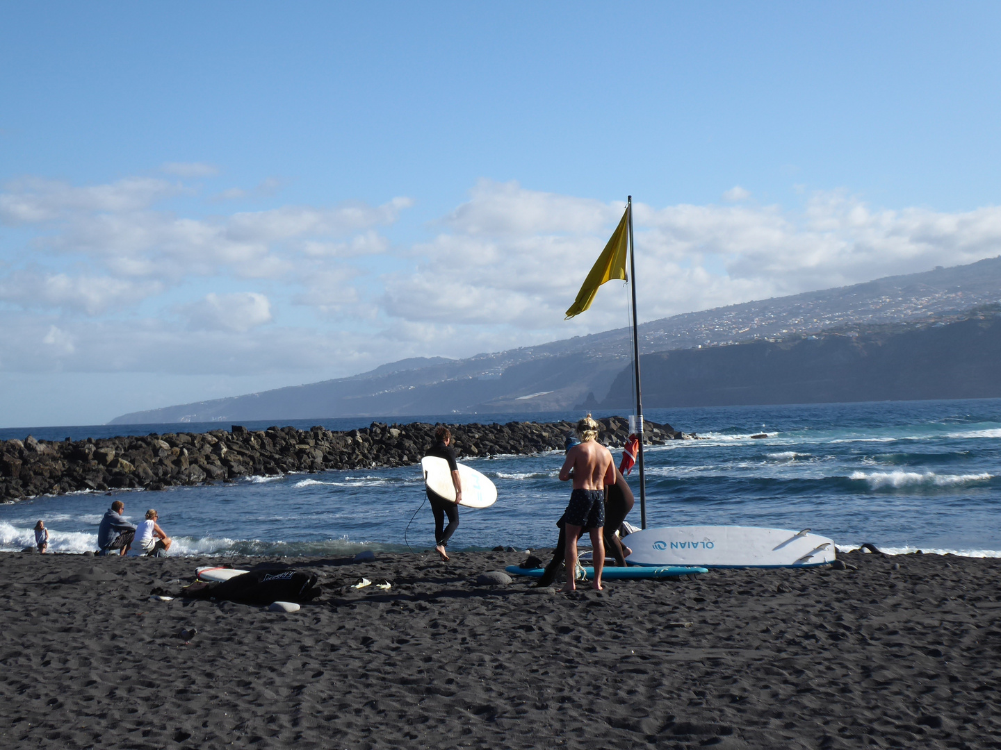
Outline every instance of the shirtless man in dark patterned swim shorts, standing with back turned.
{"label": "shirtless man in dark patterned swim shorts, standing with back turned", "polygon": [[574,570],[577,564],[577,539],[581,531],[591,533],[594,547],[595,580],[592,585],[602,590],[602,569],[605,567],[605,485],[615,484],[615,463],[612,453],[596,439],[598,422],[587,417],[577,423],[581,443],[567,451],[567,460],[560,469],[560,481],[574,480],[574,491],[564,513],[567,524],[567,585],[564,591],[575,591]]}

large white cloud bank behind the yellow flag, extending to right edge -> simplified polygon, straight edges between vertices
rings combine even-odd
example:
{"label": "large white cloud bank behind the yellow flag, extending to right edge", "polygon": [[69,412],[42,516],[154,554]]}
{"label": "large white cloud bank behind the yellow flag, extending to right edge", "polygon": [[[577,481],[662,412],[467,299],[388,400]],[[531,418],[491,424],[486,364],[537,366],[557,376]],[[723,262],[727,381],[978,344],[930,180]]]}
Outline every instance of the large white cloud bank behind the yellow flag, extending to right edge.
{"label": "large white cloud bank behind the yellow flag, extending to right edge", "polygon": [[[554,211],[544,216],[540,206]],[[451,232],[414,247],[416,269],[384,278],[382,304],[413,322],[507,325],[527,337],[622,326],[626,299],[615,283],[586,315],[563,321],[621,210],[481,181],[447,217]],[[815,194],[797,212],[636,204],[635,225],[640,313],[648,320],[970,263],[1001,248],[1001,208],[893,211],[838,191]]]}

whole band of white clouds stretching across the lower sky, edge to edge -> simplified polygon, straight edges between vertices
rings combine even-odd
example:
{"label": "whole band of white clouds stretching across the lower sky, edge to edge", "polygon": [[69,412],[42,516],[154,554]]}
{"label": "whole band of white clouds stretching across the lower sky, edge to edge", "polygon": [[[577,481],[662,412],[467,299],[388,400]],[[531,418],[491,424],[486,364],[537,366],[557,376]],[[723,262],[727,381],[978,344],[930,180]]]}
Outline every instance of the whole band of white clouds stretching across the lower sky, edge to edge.
{"label": "whole band of white clouds stretching across the lower sky, edge to edge", "polygon": [[[33,239],[0,253],[3,367],[221,373],[235,363],[304,382],[306,370],[336,377],[628,322],[620,282],[603,287],[588,313],[564,320],[622,216],[621,200],[483,180],[433,224],[436,236],[400,245],[381,228],[411,205],[406,198],[265,203],[216,215],[159,210],[158,201],[179,194],[194,201],[185,191],[145,178],[8,185],[0,216],[25,227],[11,236]],[[1001,208],[890,210],[832,191],[791,211],[728,192],[729,204],[636,204],[643,319],[969,263],[1001,248]],[[192,286],[218,279],[217,289],[240,279],[245,291],[192,299],[184,282],[196,278]],[[288,300],[308,309],[282,308]]]}

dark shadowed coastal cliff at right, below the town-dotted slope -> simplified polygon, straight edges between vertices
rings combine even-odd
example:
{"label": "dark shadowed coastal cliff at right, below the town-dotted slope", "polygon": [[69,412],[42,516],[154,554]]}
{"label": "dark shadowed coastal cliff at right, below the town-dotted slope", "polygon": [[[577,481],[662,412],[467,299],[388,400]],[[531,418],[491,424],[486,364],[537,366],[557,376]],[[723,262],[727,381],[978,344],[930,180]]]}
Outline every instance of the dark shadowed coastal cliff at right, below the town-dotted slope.
{"label": "dark shadowed coastal cliff at right, below the town-dotted slope", "polygon": [[[1001,317],[641,357],[647,408],[1001,397]],[[595,408],[629,403],[631,371]]]}

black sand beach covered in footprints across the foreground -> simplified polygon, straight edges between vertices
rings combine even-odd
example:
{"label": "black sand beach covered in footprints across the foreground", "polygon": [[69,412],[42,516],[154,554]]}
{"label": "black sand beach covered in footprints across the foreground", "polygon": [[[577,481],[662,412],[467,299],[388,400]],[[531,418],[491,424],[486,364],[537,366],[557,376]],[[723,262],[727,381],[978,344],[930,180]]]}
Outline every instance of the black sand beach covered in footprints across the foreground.
{"label": "black sand beach covered in footprints across the foreground", "polygon": [[568,596],[435,558],[229,560],[319,574],[283,614],[149,600],[218,558],[2,554],[0,747],[1001,747],[1001,560]]}

